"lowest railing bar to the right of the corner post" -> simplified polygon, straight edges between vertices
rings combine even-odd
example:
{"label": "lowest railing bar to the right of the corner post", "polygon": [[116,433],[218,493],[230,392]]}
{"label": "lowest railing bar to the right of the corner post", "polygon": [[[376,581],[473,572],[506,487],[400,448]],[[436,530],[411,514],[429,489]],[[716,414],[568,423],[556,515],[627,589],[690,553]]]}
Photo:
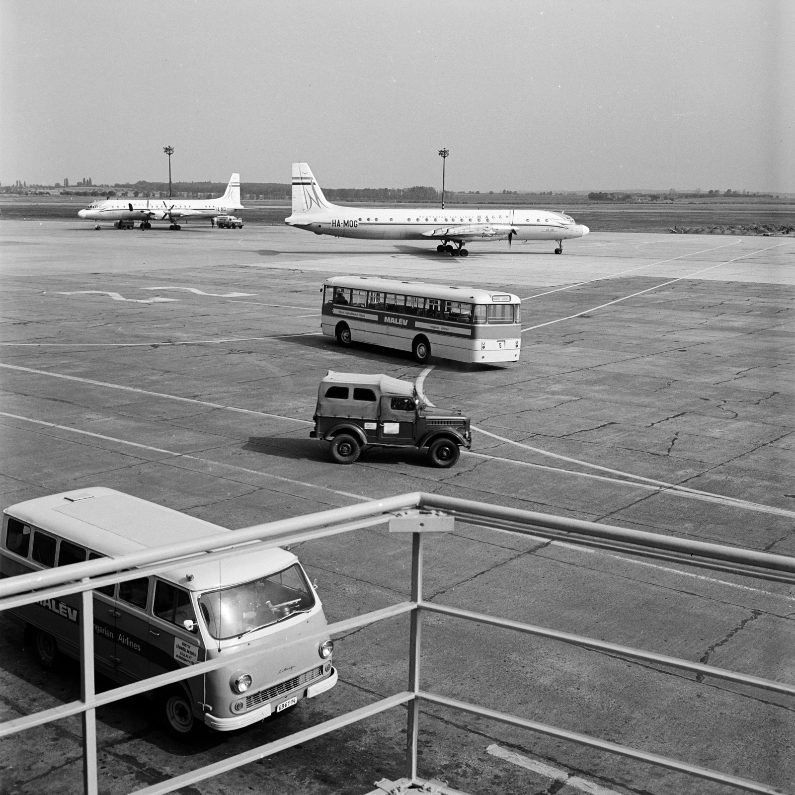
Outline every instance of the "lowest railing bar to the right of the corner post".
{"label": "lowest railing bar to the right of the corner post", "polygon": [[748,778],[739,778],[730,774],[720,773],[718,770],[710,770],[708,767],[692,765],[690,762],[681,762],[678,759],[671,759],[669,757],[660,756],[659,754],[650,754],[648,751],[637,750],[635,748],[619,745],[618,743],[611,743],[608,740],[600,740],[590,735],[581,735],[576,731],[568,731],[568,729],[549,726],[547,723],[537,723],[537,721],[534,720],[519,718],[517,715],[508,715],[506,712],[497,712],[493,709],[478,707],[475,704],[468,704],[465,701],[456,701],[452,698],[436,696],[434,693],[425,691],[417,692],[417,698],[421,701],[427,701],[430,704],[440,704],[443,707],[450,707],[460,710],[461,712],[468,712],[471,715],[480,715],[483,718],[498,720],[500,723],[510,723],[511,726],[522,727],[529,729],[529,731],[537,731],[539,734],[548,735],[549,737],[569,740],[578,745],[604,750],[609,754],[618,754],[619,756],[636,759],[638,762],[647,762],[650,765],[676,770],[679,773],[687,773],[692,776],[697,776],[698,778],[705,778],[708,781],[717,781],[719,784],[738,787],[739,789],[745,789],[747,792],[759,793],[759,795],[785,795],[781,789],[773,789],[766,784],[762,784],[758,781],[751,781]]}

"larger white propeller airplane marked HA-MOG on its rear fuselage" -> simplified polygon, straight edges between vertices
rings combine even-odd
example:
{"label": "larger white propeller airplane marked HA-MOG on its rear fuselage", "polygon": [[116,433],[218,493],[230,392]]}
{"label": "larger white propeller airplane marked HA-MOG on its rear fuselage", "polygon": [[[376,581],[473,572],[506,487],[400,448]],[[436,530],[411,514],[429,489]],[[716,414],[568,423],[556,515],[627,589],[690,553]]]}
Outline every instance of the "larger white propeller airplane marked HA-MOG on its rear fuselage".
{"label": "larger white propeller airplane marked HA-MOG on its rear fuselage", "polygon": [[285,223],[339,238],[438,240],[437,251],[460,257],[469,254],[467,242],[506,238],[509,246],[513,238],[556,240],[555,254],[563,254],[564,240],[590,231],[562,212],[536,208],[339,207],[326,200],[306,163],[293,163],[293,215]]}

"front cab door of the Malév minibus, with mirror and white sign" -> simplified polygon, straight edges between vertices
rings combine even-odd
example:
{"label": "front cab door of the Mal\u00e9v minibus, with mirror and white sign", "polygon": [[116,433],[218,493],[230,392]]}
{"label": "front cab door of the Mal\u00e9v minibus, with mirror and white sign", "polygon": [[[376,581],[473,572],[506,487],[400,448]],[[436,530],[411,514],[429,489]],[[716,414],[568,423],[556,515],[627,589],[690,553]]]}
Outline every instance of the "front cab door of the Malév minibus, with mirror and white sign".
{"label": "front cab door of the Mal\u00e9v minibus, with mirror and white sign", "polygon": [[[188,630],[185,622],[190,622]],[[204,661],[199,624],[188,591],[165,580],[155,580],[152,618],[149,619],[149,676]]]}

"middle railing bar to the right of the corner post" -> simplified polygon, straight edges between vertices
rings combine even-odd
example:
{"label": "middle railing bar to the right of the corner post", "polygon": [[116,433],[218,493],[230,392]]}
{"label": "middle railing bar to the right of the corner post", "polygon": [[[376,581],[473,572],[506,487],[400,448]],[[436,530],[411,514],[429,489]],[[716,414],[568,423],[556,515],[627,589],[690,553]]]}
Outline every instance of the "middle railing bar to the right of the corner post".
{"label": "middle railing bar to the right of the corner post", "polygon": [[724,668],[714,668],[712,665],[704,665],[700,662],[691,662],[689,660],[683,660],[680,657],[668,657],[665,654],[657,654],[652,651],[634,649],[631,646],[619,646],[616,643],[599,641],[596,638],[588,638],[584,635],[575,635],[569,632],[561,632],[560,630],[550,630],[545,626],[525,624],[518,621],[512,621],[511,619],[498,619],[493,615],[475,613],[470,610],[463,610],[460,607],[448,607],[448,605],[437,604],[435,602],[421,602],[419,606],[423,610],[433,613],[453,615],[460,619],[467,619],[467,621],[477,621],[481,624],[491,624],[491,626],[501,626],[504,629],[516,630],[518,632],[524,632],[525,634],[530,635],[537,635],[541,638],[552,638],[556,641],[569,643],[572,646],[583,646],[586,649],[609,651],[614,654],[620,654],[622,657],[632,657],[636,660],[655,662],[659,665],[669,665],[671,668],[681,668],[694,673],[704,674],[704,676],[708,677],[726,679],[732,682],[739,682],[740,684],[750,684],[757,688],[784,693],[787,696],[795,696],[795,684],[785,684],[784,682],[778,682],[772,679],[753,677],[747,673],[739,673]]}

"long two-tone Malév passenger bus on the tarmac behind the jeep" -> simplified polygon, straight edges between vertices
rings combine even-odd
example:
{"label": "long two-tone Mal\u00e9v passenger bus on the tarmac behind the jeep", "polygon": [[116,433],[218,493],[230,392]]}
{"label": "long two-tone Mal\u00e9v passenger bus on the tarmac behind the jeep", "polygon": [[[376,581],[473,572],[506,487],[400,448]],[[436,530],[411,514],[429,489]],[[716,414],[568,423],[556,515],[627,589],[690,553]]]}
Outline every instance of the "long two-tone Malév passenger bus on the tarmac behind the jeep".
{"label": "long two-tone Mal\u00e9v passenger bus on the tarmac behind the jeep", "polygon": [[371,343],[456,362],[518,362],[522,303],[513,293],[368,276],[323,285],[321,326],[340,345]]}

